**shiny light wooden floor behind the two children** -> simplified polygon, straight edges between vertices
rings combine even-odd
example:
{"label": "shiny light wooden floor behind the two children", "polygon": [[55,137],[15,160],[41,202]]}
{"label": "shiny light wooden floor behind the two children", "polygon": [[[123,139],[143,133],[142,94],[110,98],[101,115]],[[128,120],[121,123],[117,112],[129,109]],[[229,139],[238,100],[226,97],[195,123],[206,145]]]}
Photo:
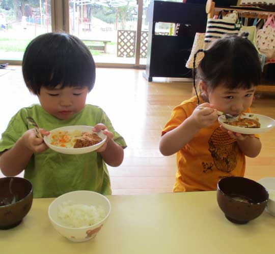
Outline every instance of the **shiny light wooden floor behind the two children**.
{"label": "shiny light wooden floor behind the two children", "polygon": [[[38,102],[25,87],[21,68],[9,68],[15,70],[0,70],[0,133],[21,107]],[[175,181],[175,155],[162,156],[158,142],[173,107],[192,95],[192,85],[173,79],[148,83],[143,72],[98,68],[95,87],[87,99],[105,110],[128,145],[122,165],[109,167],[114,195],[172,192]],[[252,111],[275,118],[274,99],[273,86],[260,86]],[[262,134],[261,141],[260,155],[247,159],[245,176],[254,180],[275,177],[275,129]]]}

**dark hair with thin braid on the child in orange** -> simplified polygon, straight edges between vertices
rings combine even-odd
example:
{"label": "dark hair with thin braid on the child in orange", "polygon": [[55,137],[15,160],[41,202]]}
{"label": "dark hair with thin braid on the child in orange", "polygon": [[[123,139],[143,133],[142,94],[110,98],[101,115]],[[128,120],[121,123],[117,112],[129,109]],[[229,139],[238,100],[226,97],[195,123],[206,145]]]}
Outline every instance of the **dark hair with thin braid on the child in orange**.
{"label": "dark hair with thin braid on the child in orange", "polygon": [[[199,52],[204,52],[204,57],[195,75],[196,56]],[[210,90],[221,84],[228,89],[249,89],[260,83],[262,72],[257,49],[248,39],[239,36],[223,37],[214,41],[209,49],[198,50],[193,67],[194,87],[196,77],[204,81]]]}

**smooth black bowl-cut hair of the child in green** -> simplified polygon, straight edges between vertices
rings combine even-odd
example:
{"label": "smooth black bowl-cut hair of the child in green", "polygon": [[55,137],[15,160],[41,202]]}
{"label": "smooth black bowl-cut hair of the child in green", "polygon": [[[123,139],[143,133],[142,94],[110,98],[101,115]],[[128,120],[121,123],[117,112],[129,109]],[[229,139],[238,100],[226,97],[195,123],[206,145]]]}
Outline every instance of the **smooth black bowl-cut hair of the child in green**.
{"label": "smooth black bowl-cut hair of the child in green", "polygon": [[95,83],[95,62],[80,39],[64,33],[47,33],[36,37],[24,52],[22,62],[26,86],[34,94],[41,86],[49,89],[61,85],[88,87]]}

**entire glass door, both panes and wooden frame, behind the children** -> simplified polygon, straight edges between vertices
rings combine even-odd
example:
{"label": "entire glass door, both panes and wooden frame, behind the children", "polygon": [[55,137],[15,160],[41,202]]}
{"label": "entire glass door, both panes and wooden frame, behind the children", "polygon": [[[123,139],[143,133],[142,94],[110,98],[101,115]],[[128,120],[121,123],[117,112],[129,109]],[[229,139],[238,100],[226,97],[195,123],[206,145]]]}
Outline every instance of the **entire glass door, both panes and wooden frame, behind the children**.
{"label": "entire glass door, both panes and wooden frame, behind the children", "polygon": [[64,31],[84,41],[97,66],[145,67],[147,37],[141,30],[148,2],[0,0],[0,61],[21,64],[32,39]]}

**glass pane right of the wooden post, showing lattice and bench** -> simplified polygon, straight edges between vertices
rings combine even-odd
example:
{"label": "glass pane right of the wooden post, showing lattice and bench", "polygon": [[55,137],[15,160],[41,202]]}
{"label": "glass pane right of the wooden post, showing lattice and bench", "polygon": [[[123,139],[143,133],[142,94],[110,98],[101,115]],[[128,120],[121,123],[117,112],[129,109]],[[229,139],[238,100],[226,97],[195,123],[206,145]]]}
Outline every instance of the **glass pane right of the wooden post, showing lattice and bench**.
{"label": "glass pane right of the wooden post, showing lattice and bench", "polygon": [[137,11],[136,0],[69,0],[70,33],[97,63],[135,65]]}

